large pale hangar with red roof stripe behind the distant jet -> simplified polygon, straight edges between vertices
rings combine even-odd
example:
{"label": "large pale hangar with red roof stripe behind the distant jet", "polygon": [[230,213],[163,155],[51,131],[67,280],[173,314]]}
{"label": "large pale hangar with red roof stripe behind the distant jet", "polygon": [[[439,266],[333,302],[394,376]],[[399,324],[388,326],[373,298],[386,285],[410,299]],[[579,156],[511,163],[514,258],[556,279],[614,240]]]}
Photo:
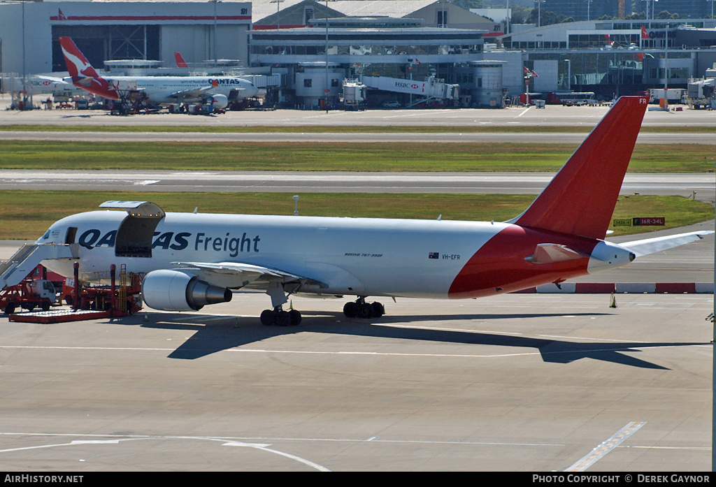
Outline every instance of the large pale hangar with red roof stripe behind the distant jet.
{"label": "large pale hangar with red roof stripe behind the distant jet", "polygon": [[156,59],[248,62],[251,2],[3,1],[0,72],[66,71],[59,36],[71,36],[89,62]]}

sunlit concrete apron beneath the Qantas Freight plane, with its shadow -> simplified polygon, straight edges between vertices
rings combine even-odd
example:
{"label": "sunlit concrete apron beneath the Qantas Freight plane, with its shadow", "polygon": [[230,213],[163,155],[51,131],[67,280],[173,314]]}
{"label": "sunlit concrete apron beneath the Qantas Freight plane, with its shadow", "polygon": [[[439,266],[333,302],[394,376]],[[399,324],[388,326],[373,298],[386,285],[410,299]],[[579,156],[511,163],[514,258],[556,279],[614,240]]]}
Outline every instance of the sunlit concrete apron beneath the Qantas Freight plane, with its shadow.
{"label": "sunlit concrete apron beneath the Qantas Freight plane, with its shadow", "polygon": [[268,302],[0,317],[0,468],[710,469],[712,295],[398,300],[371,321],[295,298],[291,328],[258,323]]}

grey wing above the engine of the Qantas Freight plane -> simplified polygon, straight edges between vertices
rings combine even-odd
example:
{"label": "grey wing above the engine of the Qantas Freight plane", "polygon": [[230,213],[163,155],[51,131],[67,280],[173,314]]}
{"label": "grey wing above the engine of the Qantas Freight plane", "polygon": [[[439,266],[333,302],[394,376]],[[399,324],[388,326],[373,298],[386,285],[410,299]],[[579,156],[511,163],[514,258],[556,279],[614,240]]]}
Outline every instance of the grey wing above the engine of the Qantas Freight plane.
{"label": "grey wing above the engine of the Qantas Freight plane", "polygon": [[283,270],[243,262],[172,262],[172,265],[196,270],[211,282],[221,282],[228,287],[243,287],[254,281],[298,282],[320,285],[309,277]]}

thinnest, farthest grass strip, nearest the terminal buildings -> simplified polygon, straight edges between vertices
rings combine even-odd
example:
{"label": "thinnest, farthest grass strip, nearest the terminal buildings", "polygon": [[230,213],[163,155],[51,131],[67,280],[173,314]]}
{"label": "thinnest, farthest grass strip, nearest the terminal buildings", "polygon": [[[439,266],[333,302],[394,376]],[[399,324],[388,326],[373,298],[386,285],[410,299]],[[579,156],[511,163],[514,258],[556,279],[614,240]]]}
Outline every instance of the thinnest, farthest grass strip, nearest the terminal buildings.
{"label": "thinnest, farthest grass strip, nearest the terminal buildings", "polygon": [[[606,113],[606,112],[605,112]],[[211,125],[0,125],[0,131],[19,131],[19,132],[199,132],[199,133],[263,133],[263,132],[280,132],[280,133],[309,133],[324,134],[337,133],[349,134],[354,132],[363,133],[495,133],[495,132],[511,132],[511,133],[589,133],[593,127],[558,127],[551,125],[536,126],[517,126],[505,127],[496,125],[467,125],[458,127],[446,126],[367,126],[353,127],[344,125],[333,126],[315,126],[315,125],[299,125],[292,127],[277,127],[267,125],[246,125],[232,127],[216,127]],[[708,127],[666,127],[666,126],[647,126],[642,127],[642,133],[677,133],[677,134],[701,134],[716,133],[716,125]]]}

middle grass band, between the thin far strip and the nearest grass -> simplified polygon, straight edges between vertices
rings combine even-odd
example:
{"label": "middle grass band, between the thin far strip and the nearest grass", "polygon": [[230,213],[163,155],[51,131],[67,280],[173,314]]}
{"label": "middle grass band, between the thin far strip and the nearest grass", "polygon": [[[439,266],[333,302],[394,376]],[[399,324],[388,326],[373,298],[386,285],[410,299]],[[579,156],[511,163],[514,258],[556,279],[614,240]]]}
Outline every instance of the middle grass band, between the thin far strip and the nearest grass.
{"label": "middle grass band, between the thin far strip and the nearest grass", "polygon": [[[0,141],[0,169],[555,172],[578,144]],[[637,144],[630,172],[708,172],[714,147]]]}

